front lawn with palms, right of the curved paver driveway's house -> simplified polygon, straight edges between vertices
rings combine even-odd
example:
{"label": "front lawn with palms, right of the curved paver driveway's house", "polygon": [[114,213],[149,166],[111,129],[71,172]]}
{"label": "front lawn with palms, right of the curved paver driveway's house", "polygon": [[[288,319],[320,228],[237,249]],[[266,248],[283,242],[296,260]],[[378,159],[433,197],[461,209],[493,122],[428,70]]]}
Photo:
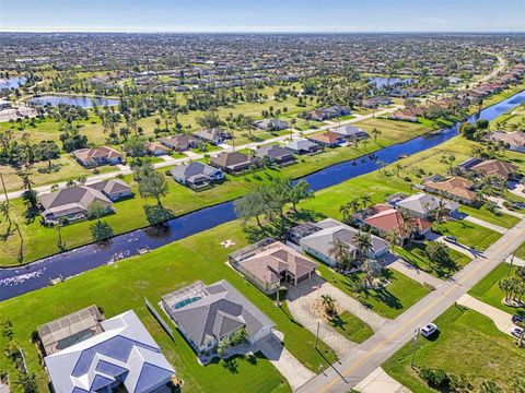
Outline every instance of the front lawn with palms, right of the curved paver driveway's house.
{"label": "front lawn with palms, right of the curved paver driveway's house", "polygon": [[369,289],[359,295],[357,285],[362,282],[362,273],[341,275],[323,264],[317,270],[327,282],[385,318],[396,318],[430,293],[429,288],[406,275],[386,269],[384,274],[390,284],[382,290]]}

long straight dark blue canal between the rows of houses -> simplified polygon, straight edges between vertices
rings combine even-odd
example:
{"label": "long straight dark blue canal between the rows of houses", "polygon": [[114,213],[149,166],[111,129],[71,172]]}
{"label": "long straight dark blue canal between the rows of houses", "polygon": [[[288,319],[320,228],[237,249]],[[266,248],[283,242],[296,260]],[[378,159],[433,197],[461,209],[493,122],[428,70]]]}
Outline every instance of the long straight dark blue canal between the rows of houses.
{"label": "long straight dark blue canal between the rows of houses", "polygon": [[[471,116],[468,121],[495,119],[502,112],[512,109],[523,102],[525,102],[525,92],[521,92],[509,99],[483,109],[477,116]],[[336,164],[305,176],[303,179],[315,191],[339,184],[354,177],[370,174],[378,169],[380,165],[395,163],[400,155],[416,154],[438,146],[456,136],[459,124],[455,124],[441,132],[392,145],[375,152],[373,158],[364,157],[363,159],[358,159],[357,165],[353,160]],[[91,269],[135,255],[140,248],[155,249],[235,218],[233,201],[224,202],[174,218],[167,223],[168,229],[161,234],[153,228],[138,229],[129,234],[119,235],[106,245],[83,246],[42,259],[26,266],[0,270],[0,300],[45,287],[49,285],[50,279],[59,276],[63,278],[71,277]]]}

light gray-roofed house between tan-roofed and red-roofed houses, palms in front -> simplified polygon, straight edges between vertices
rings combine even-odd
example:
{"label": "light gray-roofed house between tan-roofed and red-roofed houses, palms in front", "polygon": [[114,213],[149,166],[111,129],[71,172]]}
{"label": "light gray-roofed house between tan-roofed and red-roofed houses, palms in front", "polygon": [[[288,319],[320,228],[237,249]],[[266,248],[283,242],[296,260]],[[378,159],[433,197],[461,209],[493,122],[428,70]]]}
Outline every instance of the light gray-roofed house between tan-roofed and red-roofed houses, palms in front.
{"label": "light gray-roofed house between tan-roofed and red-roofed houses, palms in front", "polygon": [[[299,243],[304,251],[331,266],[336,266],[337,261],[331,255],[330,249],[334,247],[334,243],[339,240],[348,246],[352,259],[360,257],[359,250],[353,243],[353,237],[359,233],[358,229],[332,218],[324,219],[314,225],[317,226],[319,230],[299,240]],[[375,235],[370,235],[370,237],[372,249],[365,257],[380,258],[384,255],[388,251],[388,242]]]}

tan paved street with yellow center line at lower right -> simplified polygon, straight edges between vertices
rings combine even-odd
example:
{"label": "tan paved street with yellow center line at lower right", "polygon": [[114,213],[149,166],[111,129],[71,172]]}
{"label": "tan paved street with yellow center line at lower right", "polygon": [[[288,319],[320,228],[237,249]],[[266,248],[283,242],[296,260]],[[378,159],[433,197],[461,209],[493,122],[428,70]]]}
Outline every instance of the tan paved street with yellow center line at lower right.
{"label": "tan paved street with yellow center line at lower right", "polygon": [[415,336],[415,330],[434,320],[489,274],[525,241],[525,219],[510,229],[451,281],[421,299],[374,336],[298,390],[301,393],[348,392]]}

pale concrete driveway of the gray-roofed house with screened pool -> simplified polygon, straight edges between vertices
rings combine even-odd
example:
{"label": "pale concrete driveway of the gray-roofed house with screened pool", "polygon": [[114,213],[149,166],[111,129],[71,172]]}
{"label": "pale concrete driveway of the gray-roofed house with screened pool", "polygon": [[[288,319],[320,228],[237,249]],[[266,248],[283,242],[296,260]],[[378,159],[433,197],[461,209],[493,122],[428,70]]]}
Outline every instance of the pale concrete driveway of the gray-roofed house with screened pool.
{"label": "pale concrete driveway of the gray-roofed house with screened pool", "polygon": [[266,356],[275,368],[287,379],[292,390],[295,390],[312,378],[315,373],[304,367],[284,346],[281,341],[273,334],[265,340],[259,341],[257,349]]}

